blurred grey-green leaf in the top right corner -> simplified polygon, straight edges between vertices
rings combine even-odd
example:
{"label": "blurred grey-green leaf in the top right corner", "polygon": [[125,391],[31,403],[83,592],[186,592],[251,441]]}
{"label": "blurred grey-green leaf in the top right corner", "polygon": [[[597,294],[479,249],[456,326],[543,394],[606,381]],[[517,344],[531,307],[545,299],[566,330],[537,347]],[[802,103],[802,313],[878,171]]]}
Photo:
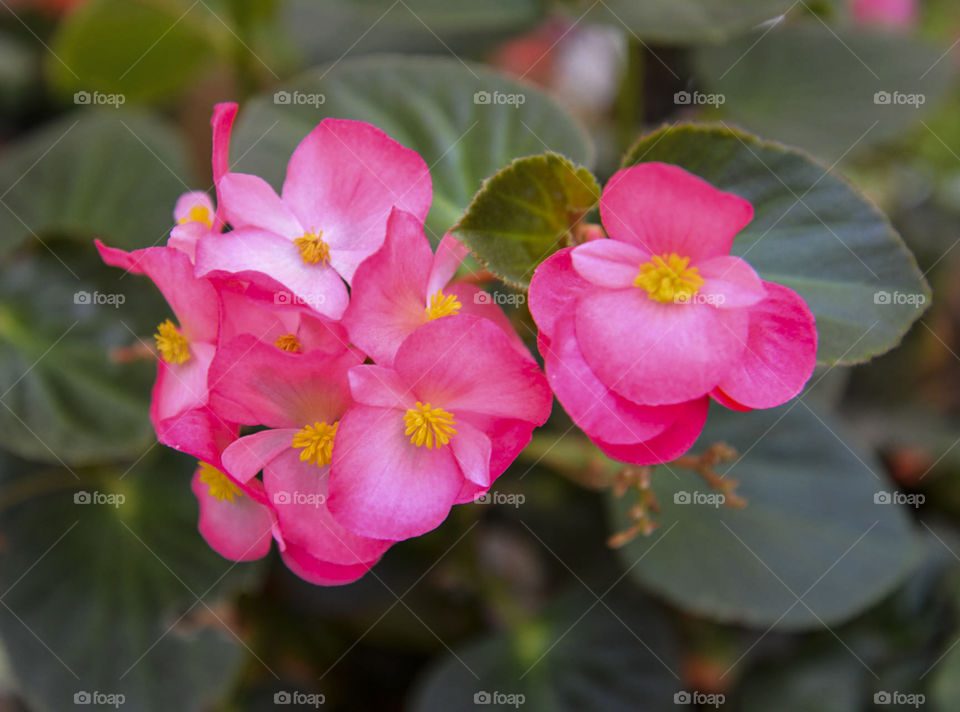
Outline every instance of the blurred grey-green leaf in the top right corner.
{"label": "blurred grey-green leaf in the top right corner", "polygon": [[[899,138],[926,116],[955,74],[945,50],[907,34],[810,21],[699,48],[694,68],[738,124],[833,163]],[[884,95],[890,102],[876,103]],[[911,95],[920,98],[898,103]]]}

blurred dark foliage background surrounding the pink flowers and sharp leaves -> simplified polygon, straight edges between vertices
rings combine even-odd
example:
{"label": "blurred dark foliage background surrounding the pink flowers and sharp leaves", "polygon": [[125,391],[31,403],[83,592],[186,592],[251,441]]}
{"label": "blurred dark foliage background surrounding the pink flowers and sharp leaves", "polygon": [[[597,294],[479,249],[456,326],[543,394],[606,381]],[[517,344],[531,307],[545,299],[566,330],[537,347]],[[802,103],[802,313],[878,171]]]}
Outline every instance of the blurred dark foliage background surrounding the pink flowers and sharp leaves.
{"label": "blurred dark foliage background surrounding the pink flowers and sharp leaves", "polygon": [[[960,708],[955,0],[0,6],[0,710]],[[515,157],[606,179],[660,126],[740,127],[864,191],[934,297],[799,401],[712,413],[695,452],[730,462],[625,469],[556,407],[488,502],[311,586],[197,533],[136,347],[167,307],[92,245],[162,244],[212,189],[218,101],[275,185],[323,117],[380,126],[434,238]],[[745,508],[684,506],[728,470]]]}

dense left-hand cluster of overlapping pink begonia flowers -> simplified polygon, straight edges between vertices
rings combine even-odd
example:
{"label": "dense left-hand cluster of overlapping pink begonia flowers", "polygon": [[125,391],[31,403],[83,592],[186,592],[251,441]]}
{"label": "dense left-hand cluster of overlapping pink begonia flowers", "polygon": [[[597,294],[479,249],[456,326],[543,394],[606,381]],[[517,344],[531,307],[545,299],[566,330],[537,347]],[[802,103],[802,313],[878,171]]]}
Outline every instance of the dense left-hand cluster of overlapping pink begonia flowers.
{"label": "dense left-hand cluster of overlapping pink begonia flowers", "polygon": [[183,195],[164,247],[97,246],[173,311],[150,415],[200,460],[210,546],[245,561],[275,541],[302,578],[347,583],[486,492],[552,396],[500,308],[451,281],[466,250],[431,250],[419,155],[325,119],[277,195],[228,170],[236,110],[212,120],[216,206]]}

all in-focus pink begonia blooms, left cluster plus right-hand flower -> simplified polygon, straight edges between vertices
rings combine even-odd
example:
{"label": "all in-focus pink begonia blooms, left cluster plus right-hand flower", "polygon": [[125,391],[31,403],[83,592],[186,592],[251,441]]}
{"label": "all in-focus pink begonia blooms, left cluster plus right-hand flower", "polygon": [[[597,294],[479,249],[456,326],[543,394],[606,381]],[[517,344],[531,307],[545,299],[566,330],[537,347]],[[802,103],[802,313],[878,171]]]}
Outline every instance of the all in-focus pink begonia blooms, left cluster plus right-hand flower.
{"label": "all in-focus pink begonia blooms, left cluster plus right-hand flower", "polygon": [[212,120],[216,205],[181,196],[164,247],[97,242],[173,311],[150,416],[199,459],[200,531],[229,559],[275,541],[308,581],[356,580],[487,492],[546,422],[551,387],[604,452],[650,464],[693,444],[711,399],[771,407],[813,370],[803,300],[729,255],[752,207],[680,168],[617,173],[610,237],[584,231],[536,270],[548,383],[489,295],[455,280],[466,249],[450,235],[431,249],[419,155],[324,119],[277,195],[229,171],[236,111]]}

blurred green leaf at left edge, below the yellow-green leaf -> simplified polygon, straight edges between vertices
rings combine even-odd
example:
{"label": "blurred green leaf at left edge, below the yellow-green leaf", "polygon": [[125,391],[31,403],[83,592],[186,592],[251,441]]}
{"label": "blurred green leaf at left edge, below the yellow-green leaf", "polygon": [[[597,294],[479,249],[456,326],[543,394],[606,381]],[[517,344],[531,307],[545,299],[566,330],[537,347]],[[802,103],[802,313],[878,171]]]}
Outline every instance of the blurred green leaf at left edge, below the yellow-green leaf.
{"label": "blurred green leaf at left edge, below the yellow-green leaf", "polygon": [[124,248],[161,243],[193,187],[179,136],[155,118],[84,109],[0,155],[0,257],[52,235]]}

